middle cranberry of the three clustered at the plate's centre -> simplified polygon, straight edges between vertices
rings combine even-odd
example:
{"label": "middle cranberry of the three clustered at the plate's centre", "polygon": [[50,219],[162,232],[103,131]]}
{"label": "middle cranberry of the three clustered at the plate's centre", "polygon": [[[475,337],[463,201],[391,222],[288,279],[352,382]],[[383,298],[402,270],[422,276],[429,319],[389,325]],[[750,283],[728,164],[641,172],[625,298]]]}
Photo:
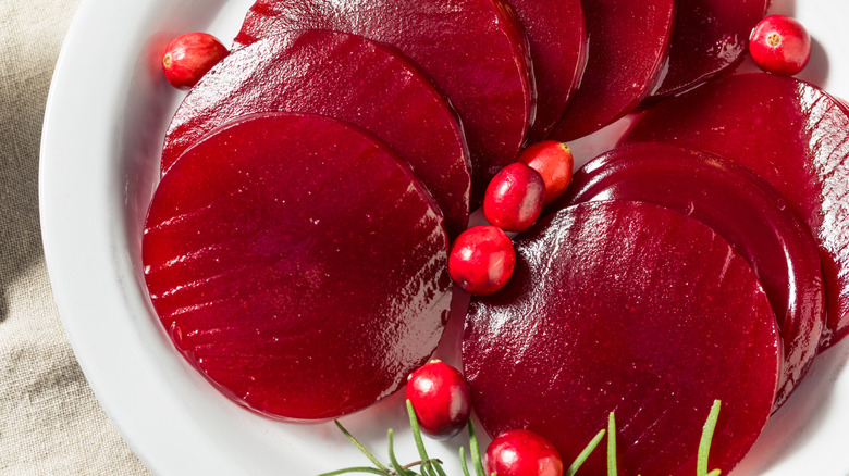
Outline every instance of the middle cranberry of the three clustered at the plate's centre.
{"label": "middle cranberry of the three clustered at the plate's centre", "polygon": [[542,175],[521,162],[495,174],[483,196],[487,221],[505,231],[530,228],[542,212],[545,181]]}

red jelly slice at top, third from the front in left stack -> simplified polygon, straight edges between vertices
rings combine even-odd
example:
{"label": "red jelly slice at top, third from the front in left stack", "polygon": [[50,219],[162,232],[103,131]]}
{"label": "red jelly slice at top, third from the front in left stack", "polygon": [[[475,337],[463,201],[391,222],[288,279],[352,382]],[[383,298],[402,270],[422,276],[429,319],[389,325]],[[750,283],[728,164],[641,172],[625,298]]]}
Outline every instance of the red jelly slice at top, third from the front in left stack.
{"label": "red jelly slice at top, third from the front in left stack", "polygon": [[533,118],[534,89],[522,27],[506,0],[257,0],[235,41],[307,28],[391,45],[433,80],[466,131],[473,200],[516,159]]}

